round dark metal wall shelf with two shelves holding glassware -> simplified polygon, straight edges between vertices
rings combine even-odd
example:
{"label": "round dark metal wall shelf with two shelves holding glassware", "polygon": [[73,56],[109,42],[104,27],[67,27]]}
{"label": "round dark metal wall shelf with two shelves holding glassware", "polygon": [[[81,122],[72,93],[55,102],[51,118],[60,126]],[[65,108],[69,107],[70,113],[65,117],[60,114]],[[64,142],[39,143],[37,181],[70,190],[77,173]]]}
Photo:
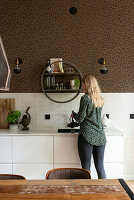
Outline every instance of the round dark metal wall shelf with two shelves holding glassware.
{"label": "round dark metal wall shelf with two shelves holding glassware", "polygon": [[[66,61],[59,61],[59,62],[62,62],[64,72],[54,72],[54,73],[46,72],[46,69],[48,67],[47,65],[41,76],[41,87],[44,94],[50,100],[56,103],[67,103],[75,99],[81,92],[82,75],[80,70],[74,64]],[[49,64],[50,68],[52,68],[53,64],[54,63]],[[79,80],[80,82],[79,89],[71,89],[70,80],[74,79]],[[50,93],[70,93],[70,94],[74,93],[74,96],[72,97],[72,95],[70,95],[69,99],[59,101],[59,98],[58,100],[54,99],[56,96],[52,97],[52,95],[49,95]]]}

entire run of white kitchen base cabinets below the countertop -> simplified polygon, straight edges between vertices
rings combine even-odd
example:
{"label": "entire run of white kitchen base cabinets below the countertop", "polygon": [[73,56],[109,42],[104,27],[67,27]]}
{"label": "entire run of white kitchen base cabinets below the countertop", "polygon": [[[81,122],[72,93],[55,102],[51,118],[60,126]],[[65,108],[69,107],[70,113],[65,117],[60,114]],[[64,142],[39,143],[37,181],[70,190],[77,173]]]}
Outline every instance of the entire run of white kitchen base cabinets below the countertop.
{"label": "entire run of white kitchen base cabinets below the countertop", "polygon": [[[44,179],[47,171],[59,167],[80,167],[76,134],[11,134],[0,136],[0,173],[14,173],[27,179]],[[123,177],[123,137],[107,136],[104,166],[107,178]],[[91,177],[98,178],[91,163]]]}

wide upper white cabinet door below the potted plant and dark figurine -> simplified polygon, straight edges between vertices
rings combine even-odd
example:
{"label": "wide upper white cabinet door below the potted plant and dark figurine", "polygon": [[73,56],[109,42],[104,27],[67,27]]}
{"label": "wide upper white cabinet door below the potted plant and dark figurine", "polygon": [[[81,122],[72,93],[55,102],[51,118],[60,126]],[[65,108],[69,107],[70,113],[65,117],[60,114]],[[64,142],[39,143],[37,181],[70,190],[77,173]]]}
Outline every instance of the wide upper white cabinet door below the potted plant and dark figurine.
{"label": "wide upper white cabinet door below the potted plant and dark figurine", "polygon": [[13,137],[13,163],[53,162],[53,136]]}

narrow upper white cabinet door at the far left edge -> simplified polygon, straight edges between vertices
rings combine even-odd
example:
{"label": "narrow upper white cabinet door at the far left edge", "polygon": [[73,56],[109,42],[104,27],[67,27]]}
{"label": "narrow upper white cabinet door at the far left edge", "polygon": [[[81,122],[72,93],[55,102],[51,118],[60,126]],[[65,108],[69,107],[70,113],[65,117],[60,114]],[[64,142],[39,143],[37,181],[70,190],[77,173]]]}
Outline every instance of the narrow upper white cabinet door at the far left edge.
{"label": "narrow upper white cabinet door at the far left edge", "polygon": [[12,163],[12,138],[0,137],[0,163]]}

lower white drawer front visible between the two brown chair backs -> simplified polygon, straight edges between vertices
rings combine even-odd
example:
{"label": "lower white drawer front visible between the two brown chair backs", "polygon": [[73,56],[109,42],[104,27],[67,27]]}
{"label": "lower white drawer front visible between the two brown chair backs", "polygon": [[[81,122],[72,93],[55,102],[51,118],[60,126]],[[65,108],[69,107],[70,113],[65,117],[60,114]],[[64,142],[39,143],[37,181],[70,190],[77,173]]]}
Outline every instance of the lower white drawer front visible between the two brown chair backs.
{"label": "lower white drawer front visible between the two brown chair backs", "polygon": [[52,164],[13,164],[13,173],[20,174],[26,179],[45,179],[46,173],[53,169]]}

